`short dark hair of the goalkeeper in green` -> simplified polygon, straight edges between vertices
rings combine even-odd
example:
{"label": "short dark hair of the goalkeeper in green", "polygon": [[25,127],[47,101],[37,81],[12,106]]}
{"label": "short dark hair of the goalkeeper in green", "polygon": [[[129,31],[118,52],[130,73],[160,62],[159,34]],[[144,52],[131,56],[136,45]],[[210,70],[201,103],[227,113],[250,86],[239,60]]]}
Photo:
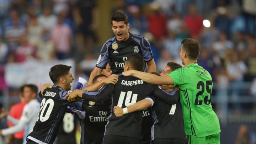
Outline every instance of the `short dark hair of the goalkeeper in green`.
{"label": "short dark hair of the goalkeeper in green", "polygon": [[182,50],[185,51],[185,53],[188,56],[188,59],[197,60],[200,53],[199,42],[192,38],[185,38],[182,40],[181,44]]}

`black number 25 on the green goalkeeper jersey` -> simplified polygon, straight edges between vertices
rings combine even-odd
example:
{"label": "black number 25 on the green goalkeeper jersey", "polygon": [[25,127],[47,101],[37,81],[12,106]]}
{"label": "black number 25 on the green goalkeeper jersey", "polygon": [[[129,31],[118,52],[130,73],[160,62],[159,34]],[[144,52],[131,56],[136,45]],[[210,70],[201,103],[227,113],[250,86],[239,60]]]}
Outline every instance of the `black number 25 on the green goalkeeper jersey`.
{"label": "black number 25 on the green goalkeeper jersey", "polygon": [[[205,103],[206,105],[209,105],[210,102],[211,102],[211,99],[208,100],[208,97],[210,97],[211,94],[212,94],[212,90],[211,90],[210,87],[209,87],[210,85],[212,85],[212,81],[211,81],[211,80],[207,80],[207,81],[206,81],[206,91],[207,91],[207,93],[208,93],[209,95],[204,96],[204,103]],[[198,91],[197,94],[196,94],[196,100],[195,100],[195,103],[194,103],[195,106],[197,106],[197,105],[202,105],[202,104],[203,104],[203,101],[202,101],[202,100],[198,100],[198,97],[201,96],[201,95],[203,95],[204,90],[205,90],[205,87],[204,87],[204,86],[205,86],[205,85],[204,85],[204,82],[203,82],[203,81],[199,81],[199,82],[197,83],[197,89],[200,90],[200,87],[201,87],[201,91]]]}

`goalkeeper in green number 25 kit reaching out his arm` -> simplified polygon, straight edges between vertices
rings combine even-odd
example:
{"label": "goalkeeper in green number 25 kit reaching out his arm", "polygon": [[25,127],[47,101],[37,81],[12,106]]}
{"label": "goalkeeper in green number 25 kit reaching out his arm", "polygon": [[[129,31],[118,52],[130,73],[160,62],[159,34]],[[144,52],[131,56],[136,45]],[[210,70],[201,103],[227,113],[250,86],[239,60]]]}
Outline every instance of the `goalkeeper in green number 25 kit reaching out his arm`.
{"label": "goalkeeper in green number 25 kit reaching out his arm", "polygon": [[136,70],[124,71],[123,75],[179,87],[188,144],[220,144],[219,119],[211,105],[212,76],[197,64],[200,44],[191,38],[183,39],[181,44],[180,57],[185,67],[163,76]]}

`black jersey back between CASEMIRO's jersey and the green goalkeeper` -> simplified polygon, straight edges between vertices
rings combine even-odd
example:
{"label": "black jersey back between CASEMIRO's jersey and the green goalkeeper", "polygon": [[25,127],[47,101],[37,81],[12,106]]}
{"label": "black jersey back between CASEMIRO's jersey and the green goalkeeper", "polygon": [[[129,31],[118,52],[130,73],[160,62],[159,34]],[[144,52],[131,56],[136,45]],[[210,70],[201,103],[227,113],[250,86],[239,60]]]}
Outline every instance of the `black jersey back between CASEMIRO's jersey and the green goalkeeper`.
{"label": "black jersey back between CASEMIRO's jersey and the green goalkeeper", "polygon": [[[174,95],[180,95],[179,91],[174,89]],[[154,97],[152,107],[154,125],[151,127],[151,140],[160,138],[180,138],[186,139],[183,124],[183,113],[181,103],[169,105],[159,98]]]}

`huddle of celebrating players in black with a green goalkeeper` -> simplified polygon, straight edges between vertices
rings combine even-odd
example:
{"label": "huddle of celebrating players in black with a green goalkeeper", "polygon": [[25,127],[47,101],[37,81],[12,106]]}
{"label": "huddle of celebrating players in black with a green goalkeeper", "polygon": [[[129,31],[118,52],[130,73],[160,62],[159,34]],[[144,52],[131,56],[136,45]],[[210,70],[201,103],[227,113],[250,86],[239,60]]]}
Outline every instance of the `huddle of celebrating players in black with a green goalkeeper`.
{"label": "huddle of celebrating players in black with a green goalkeeper", "polygon": [[[220,144],[212,77],[197,64],[200,44],[184,39],[185,67],[169,62],[158,74],[148,39],[128,32],[127,16],[116,12],[111,24],[116,36],[103,44],[87,87],[70,92],[71,66],[50,69],[53,86],[41,87],[27,144],[52,144],[67,110],[80,118],[81,144]],[[112,75],[101,74],[107,64]]]}

